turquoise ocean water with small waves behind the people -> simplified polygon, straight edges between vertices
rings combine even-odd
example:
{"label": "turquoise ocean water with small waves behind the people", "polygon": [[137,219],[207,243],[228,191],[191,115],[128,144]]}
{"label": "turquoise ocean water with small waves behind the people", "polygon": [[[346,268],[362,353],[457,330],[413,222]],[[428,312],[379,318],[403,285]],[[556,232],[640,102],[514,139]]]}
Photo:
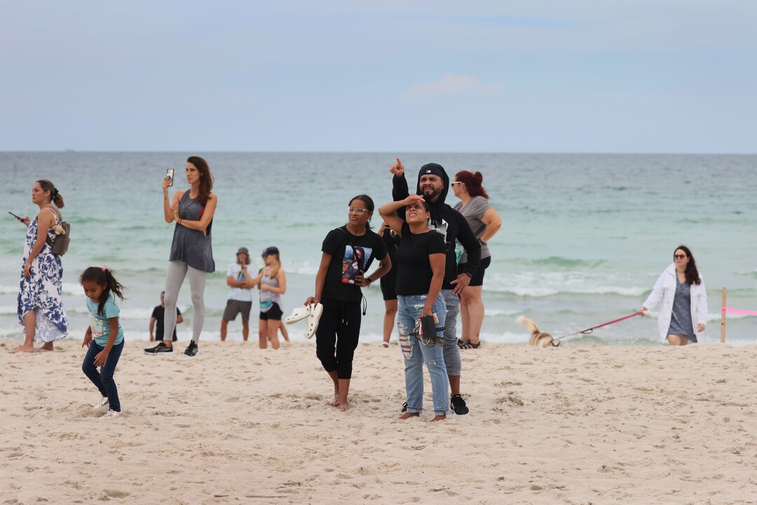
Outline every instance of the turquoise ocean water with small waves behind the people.
{"label": "turquoise ocean water with small waves behind the people", "polygon": [[[77,279],[88,266],[107,265],[128,288],[122,307],[126,338],[147,340],[152,307],[164,288],[173,224],[163,220],[160,182],[176,169],[176,188],[188,154],[210,162],[219,207],[213,224],[217,272],[208,277],[202,338],[219,339],[226,304],[226,267],[240,246],[255,255],[282,251],[288,291],[284,310],[313,293],[322,239],[347,220],[347,203],[367,193],[391,199],[388,167],[399,156],[415,185],[417,169],[435,161],[453,176],[480,170],[503,227],[491,240],[484,282],[482,340],[528,339],[519,315],[542,330],[565,335],[633,313],[674,248],[689,245],[709,298],[706,341],[720,339],[721,288],[728,306],[757,310],[757,155],[640,154],[360,154],[360,153],[0,153],[0,340],[21,341],[16,296],[26,229],[14,214],[36,214],[30,193],[51,179],[64,195],[72,245],[64,260],[64,304],[70,338],[82,338],[86,305]],[[452,192],[448,203],[456,199]],[[373,218],[380,223],[378,213]],[[260,267],[260,257],[254,257]],[[382,335],[378,286],[364,290],[368,314],[363,341]],[[256,297],[257,302],[257,297]],[[188,283],[179,296],[188,340],[192,316]],[[257,312],[254,311],[257,314]],[[581,335],[571,344],[658,344],[656,314]],[[257,317],[251,336],[257,338]],[[459,323],[458,323],[459,328]],[[304,341],[301,324],[289,326]],[[241,323],[229,325],[241,339]],[[729,315],[727,341],[757,341],[757,318]]]}

